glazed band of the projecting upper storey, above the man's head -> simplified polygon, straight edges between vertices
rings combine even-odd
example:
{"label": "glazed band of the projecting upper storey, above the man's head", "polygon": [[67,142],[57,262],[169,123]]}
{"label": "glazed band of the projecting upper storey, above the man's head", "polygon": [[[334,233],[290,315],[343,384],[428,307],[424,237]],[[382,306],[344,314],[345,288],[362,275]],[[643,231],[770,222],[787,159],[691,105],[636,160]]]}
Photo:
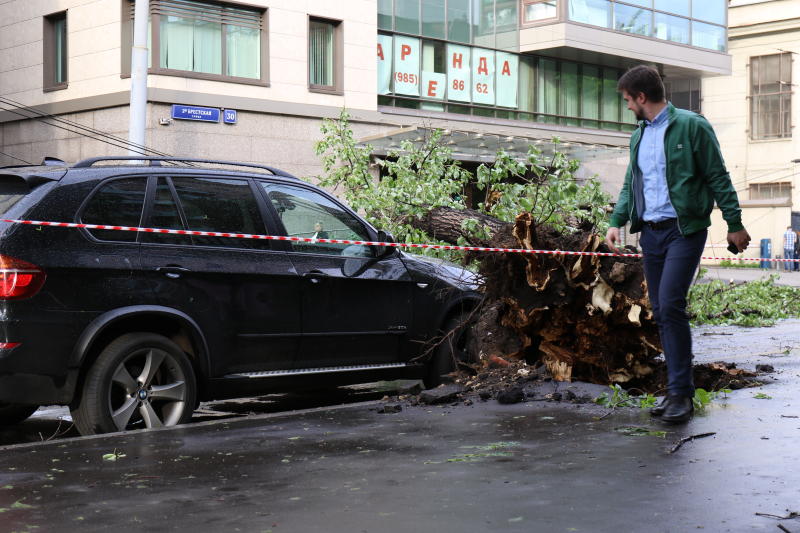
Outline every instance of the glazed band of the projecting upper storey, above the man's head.
{"label": "glazed band of the projecting upper storey, above the man's head", "polygon": [[726,0],[520,0],[523,25],[569,20],[724,52]]}

